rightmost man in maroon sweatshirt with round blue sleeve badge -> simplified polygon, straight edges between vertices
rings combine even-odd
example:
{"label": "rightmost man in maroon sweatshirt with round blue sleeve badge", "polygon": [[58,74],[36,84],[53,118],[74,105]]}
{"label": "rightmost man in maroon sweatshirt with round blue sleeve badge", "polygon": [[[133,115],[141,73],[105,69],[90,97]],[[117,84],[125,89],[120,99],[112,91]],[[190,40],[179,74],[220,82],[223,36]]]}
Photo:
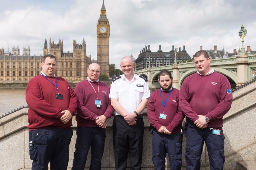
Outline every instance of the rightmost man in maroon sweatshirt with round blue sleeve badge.
{"label": "rightmost man in maroon sweatshirt with round blue sleeve badge", "polygon": [[187,170],[199,170],[204,142],[210,169],[224,166],[224,134],[222,117],[230,110],[232,91],[228,79],[210,68],[206,51],[194,55],[197,73],[187,77],[180,88],[180,108],[189,124],[186,131]]}

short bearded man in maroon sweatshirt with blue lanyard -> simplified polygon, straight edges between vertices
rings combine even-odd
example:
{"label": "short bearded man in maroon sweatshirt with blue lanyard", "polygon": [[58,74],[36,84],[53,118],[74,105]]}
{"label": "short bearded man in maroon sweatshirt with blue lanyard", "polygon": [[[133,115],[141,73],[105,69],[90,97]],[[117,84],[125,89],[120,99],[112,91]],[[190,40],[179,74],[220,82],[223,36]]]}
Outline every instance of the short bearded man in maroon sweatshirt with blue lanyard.
{"label": "short bearded man in maroon sweatshirt with blue lanyard", "polygon": [[158,82],[161,88],[154,91],[148,101],[148,120],[154,127],[152,160],[155,170],[165,169],[166,152],[171,170],[180,170],[182,165],[180,139],[183,134],[180,129],[185,115],[179,107],[179,90],[172,87],[172,80],[170,71],[160,71]]}

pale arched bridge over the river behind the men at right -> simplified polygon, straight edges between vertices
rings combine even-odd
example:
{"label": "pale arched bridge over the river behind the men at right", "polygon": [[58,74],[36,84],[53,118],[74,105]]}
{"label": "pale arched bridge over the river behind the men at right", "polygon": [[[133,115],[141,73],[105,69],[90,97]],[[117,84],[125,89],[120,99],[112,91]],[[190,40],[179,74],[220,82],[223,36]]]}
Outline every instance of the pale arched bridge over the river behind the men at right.
{"label": "pale arched bridge over the river behind the men at right", "polygon": [[[256,54],[211,59],[210,67],[213,68],[214,71],[226,76],[230,81],[231,87],[236,88],[255,78]],[[163,69],[171,71],[173,86],[177,89],[180,89],[180,86],[186,77],[197,71],[194,62],[185,62],[154,68],[145,68],[135,71],[135,73],[146,77],[150,88],[159,88],[158,74]]]}

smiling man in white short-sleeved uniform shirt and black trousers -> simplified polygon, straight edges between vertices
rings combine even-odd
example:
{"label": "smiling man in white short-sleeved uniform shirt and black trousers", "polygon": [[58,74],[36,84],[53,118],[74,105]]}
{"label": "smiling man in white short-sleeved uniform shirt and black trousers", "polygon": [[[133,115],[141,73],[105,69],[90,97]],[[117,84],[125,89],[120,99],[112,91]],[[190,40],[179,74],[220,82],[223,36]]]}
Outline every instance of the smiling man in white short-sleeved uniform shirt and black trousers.
{"label": "smiling man in white short-sleeved uniform shirt and black trousers", "polygon": [[116,170],[126,170],[129,151],[130,170],[140,170],[142,162],[144,122],[142,113],[150,91],[147,80],[134,74],[134,61],[123,57],[120,67],[123,75],[116,77],[109,98],[115,109],[113,146]]}

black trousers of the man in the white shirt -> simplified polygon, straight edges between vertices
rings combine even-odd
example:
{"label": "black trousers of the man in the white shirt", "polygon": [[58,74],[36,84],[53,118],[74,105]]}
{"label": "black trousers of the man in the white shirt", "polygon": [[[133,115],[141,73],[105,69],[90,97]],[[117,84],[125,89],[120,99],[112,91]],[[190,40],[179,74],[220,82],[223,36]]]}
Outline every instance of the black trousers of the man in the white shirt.
{"label": "black trousers of the man in the white shirt", "polygon": [[140,170],[143,150],[144,122],[137,116],[137,123],[129,126],[122,116],[113,120],[113,146],[116,170],[126,170],[129,152],[130,170]]}

